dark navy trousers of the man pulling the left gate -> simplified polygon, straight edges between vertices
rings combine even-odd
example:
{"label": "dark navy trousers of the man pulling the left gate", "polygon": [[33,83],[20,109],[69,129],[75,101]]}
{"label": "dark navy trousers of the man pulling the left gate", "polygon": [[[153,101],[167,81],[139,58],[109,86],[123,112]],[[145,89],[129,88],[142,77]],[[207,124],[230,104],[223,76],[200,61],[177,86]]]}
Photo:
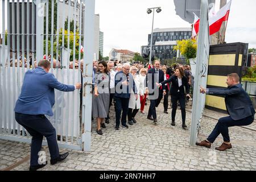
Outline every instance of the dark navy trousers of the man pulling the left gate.
{"label": "dark navy trousers of the man pulling the left gate", "polygon": [[47,139],[51,159],[59,158],[55,128],[44,115],[15,113],[15,119],[32,136],[30,166],[38,165],[38,153],[42,147],[43,137]]}

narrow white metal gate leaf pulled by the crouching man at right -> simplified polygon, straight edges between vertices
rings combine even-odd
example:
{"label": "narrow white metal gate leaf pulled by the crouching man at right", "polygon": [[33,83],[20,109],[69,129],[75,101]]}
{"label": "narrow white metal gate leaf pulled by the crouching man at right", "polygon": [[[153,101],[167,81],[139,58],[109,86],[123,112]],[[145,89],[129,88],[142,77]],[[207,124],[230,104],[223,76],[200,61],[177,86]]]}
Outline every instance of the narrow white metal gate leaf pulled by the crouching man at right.
{"label": "narrow white metal gate leaf pulled by the crouching man at right", "polygon": [[200,86],[206,88],[208,75],[208,60],[210,49],[208,1],[201,1],[200,27],[196,55],[196,75],[193,90],[193,106],[189,144],[196,145],[201,118],[205,106],[205,94],[200,93]]}

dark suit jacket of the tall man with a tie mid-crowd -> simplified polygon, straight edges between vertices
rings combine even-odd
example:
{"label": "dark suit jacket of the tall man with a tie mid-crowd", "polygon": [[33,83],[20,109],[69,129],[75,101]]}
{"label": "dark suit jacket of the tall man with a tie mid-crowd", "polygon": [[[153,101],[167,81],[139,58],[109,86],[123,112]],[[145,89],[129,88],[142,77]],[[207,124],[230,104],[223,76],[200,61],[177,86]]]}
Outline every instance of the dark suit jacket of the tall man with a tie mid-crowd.
{"label": "dark suit jacket of the tall man with a tie mid-crowd", "polygon": [[[156,82],[160,83],[162,81],[164,81],[164,72],[160,69],[158,69],[158,74],[159,74],[159,80],[155,81],[155,68],[151,68],[147,71],[147,75],[146,75],[146,87],[148,88],[148,94],[152,95],[154,94],[154,90],[156,88],[158,88],[158,86],[156,86]],[[162,89],[165,90],[166,86],[163,85]]]}

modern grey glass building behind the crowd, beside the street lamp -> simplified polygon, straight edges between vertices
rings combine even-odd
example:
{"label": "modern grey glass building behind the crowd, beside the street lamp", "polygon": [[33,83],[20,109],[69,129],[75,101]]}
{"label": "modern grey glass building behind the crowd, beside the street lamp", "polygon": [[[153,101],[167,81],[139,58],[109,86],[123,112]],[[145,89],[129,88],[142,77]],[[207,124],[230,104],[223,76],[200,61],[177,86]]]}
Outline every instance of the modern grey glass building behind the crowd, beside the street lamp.
{"label": "modern grey glass building behind the crowd, beside the street lamp", "polygon": [[[177,57],[174,46],[177,40],[191,39],[191,28],[156,28],[153,31],[152,51],[155,57],[160,60],[167,60]],[[141,53],[144,48],[150,48],[151,34],[148,35],[147,46],[142,46]]]}

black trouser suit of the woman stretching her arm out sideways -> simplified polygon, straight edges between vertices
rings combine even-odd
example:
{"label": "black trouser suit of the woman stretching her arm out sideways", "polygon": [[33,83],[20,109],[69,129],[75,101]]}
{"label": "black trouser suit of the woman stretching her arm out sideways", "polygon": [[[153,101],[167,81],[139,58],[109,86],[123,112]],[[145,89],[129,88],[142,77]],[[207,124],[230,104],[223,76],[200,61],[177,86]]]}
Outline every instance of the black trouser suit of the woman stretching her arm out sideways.
{"label": "black trouser suit of the woman stretching her arm out sideways", "polygon": [[187,77],[182,77],[181,82],[182,85],[179,86],[178,78],[177,76],[172,76],[166,81],[161,82],[162,85],[171,84],[170,94],[171,94],[171,101],[172,101],[172,121],[175,121],[175,115],[177,110],[177,101],[180,103],[181,107],[181,117],[182,117],[182,123],[185,124],[185,118],[186,118],[186,111],[185,111],[185,96],[187,94],[188,90],[188,79]]}

